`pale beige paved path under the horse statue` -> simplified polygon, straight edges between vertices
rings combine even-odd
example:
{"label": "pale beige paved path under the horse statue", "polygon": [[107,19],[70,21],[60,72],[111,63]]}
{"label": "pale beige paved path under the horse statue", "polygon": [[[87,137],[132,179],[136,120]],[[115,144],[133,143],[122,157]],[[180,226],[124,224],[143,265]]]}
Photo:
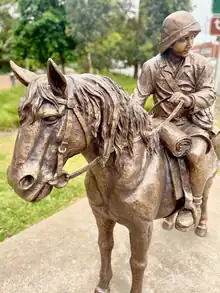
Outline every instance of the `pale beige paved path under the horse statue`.
{"label": "pale beige paved path under the horse statue", "polygon": [[[155,222],[144,293],[220,292],[220,185],[212,188],[209,234],[167,232]],[[128,232],[117,226],[112,293],[130,288]],[[0,244],[1,293],[92,293],[97,229],[87,199]]]}

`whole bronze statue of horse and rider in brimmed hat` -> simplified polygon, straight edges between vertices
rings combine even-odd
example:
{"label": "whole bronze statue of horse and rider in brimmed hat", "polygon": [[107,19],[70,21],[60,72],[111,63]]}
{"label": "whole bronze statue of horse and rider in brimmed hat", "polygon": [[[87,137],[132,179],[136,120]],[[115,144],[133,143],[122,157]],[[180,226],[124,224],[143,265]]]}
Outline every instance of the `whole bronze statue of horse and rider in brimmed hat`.
{"label": "whole bronze statue of horse and rider in brimmed hat", "polygon": [[[171,19],[172,17],[170,16]],[[191,16],[187,19],[192,20]],[[176,32],[174,42],[181,37],[184,38],[182,42],[191,44],[191,26],[187,24],[187,19],[178,17],[177,23],[185,21],[190,32],[187,29],[184,34],[181,30]],[[195,28],[196,33],[199,30],[197,24]],[[165,40],[170,41],[162,42],[162,52],[172,47],[170,37],[167,36]],[[189,132],[188,128],[184,128],[183,132],[169,122],[173,119],[176,121],[176,115],[180,115],[178,120],[182,121],[181,117],[185,117],[183,113],[186,111],[193,117],[194,113],[200,113],[201,108],[210,106],[215,98],[205,60],[198,56],[191,59],[190,56],[181,57],[187,63],[178,64],[180,71],[177,70],[176,73],[180,75],[182,72],[178,79],[182,82],[178,82],[179,88],[175,94],[174,90],[167,86],[166,79],[162,75],[157,76],[161,83],[156,86],[160,86],[161,91],[163,88],[164,95],[168,95],[171,101],[155,105],[154,116],[167,118],[165,121],[153,120],[152,116],[135,102],[141,98],[143,104],[151,92],[157,97],[156,103],[160,102],[159,99],[167,99],[166,96],[160,95],[160,91],[149,90],[155,89],[153,85],[149,85],[155,81],[154,72],[150,71],[156,62],[154,60],[159,58],[165,62],[167,59],[163,56],[144,65],[139,86],[132,99],[107,77],[91,74],[64,76],[51,59],[48,60],[47,74],[40,76],[11,62],[15,76],[28,88],[19,104],[20,128],[13,159],[8,168],[9,183],[23,199],[38,202],[46,197],[54,186],[64,187],[70,179],[87,171],[85,186],[99,230],[98,243],[101,253],[100,279],[95,293],[110,292],[111,251],[116,222],[126,226],[130,233],[130,292],[142,292],[153,221],[167,218],[180,209],[185,212],[187,208],[191,208],[186,207],[186,202],[190,200],[184,199],[187,195],[187,173],[178,170],[186,166],[180,156],[185,154],[186,150],[193,149],[194,134],[197,134],[197,131],[199,136],[198,139],[195,136],[195,141],[198,141],[201,160],[201,163],[198,161],[197,164],[202,168],[202,172],[195,174],[200,193],[199,196],[193,196],[199,197],[199,200],[202,196],[202,211],[201,217],[198,218],[197,214],[196,233],[200,236],[206,234],[207,199],[212,179],[217,172],[218,158],[212,147],[209,131],[202,128],[200,131],[200,127],[195,126],[193,132],[194,124],[190,124]],[[175,69],[177,58],[175,55],[172,58],[172,66]],[[191,61],[194,63],[191,64]],[[170,71],[164,63],[165,66],[167,71]],[[195,70],[198,82],[193,80],[191,83],[194,78],[192,70]],[[187,82],[183,76],[188,78]],[[182,100],[180,103],[179,98]],[[203,101],[203,106],[197,104],[197,100],[201,103]],[[180,108],[182,105],[184,107]],[[159,109],[164,111],[164,116],[161,115],[162,112],[158,112]],[[176,138],[174,144],[173,137]],[[172,139],[169,141],[170,138]],[[166,150],[166,143],[169,151]],[[62,170],[65,162],[78,153],[83,154],[88,165],[73,174],[65,173]],[[191,162],[190,158],[188,160]],[[176,173],[172,172],[171,168],[174,168],[172,170],[176,170]],[[176,176],[172,176],[172,173]],[[193,208],[190,211],[193,211]]]}

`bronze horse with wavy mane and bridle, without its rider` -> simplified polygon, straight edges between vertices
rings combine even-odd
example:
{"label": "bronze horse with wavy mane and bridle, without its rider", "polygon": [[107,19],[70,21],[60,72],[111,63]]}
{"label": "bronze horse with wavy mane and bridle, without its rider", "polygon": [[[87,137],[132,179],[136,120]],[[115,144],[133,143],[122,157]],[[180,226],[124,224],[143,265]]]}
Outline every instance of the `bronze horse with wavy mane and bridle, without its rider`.
{"label": "bronze horse with wavy mane and bridle, without its rider", "polygon": [[[174,196],[165,148],[151,116],[107,77],[65,76],[49,59],[36,75],[11,62],[27,91],[19,103],[20,127],[7,176],[15,192],[39,202],[87,171],[86,192],[98,226],[100,279],[95,293],[109,293],[116,223],[130,233],[131,293],[141,293],[153,221],[173,217],[184,204]],[[81,153],[88,165],[67,174],[66,161]],[[206,155],[202,214],[196,234],[207,232],[207,199],[218,169],[214,148]]]}

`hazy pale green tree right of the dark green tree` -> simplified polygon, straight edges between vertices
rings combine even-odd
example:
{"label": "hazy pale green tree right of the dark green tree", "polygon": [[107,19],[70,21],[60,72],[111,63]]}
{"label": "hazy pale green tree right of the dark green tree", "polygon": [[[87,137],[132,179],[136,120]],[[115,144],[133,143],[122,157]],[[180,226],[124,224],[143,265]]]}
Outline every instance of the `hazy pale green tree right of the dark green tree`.
{"label": "hazy pale green tree right of the dark green tree", "polygon": [[98,69],[108,67],[117,55],[117,24],[121,25],[131,11],[132,1],[67,0],[66,7],[71,33],[79,41],[79,55],[87,56],[87,70],[92,72],[93,65]]}

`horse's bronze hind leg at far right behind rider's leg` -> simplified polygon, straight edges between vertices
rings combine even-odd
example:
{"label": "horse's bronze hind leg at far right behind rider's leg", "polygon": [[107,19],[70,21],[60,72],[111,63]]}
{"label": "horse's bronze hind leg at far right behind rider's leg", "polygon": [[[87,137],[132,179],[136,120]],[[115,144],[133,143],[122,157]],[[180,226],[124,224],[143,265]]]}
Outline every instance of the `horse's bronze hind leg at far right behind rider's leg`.
{"label": "horse's bronze hind leg at far right behind rider's leg", "polygon": [[203,199],[202,199],[202,205],[201,205],[201,217],[199,220],[199,224],[196,227],[196,235],[200,237],[205,237],[207,235],[208,231],[208,196],[209,196],[209,190],[212,186],[213,179],[209,179],[209,181],[206,183],[204,192],[203,192]]}

